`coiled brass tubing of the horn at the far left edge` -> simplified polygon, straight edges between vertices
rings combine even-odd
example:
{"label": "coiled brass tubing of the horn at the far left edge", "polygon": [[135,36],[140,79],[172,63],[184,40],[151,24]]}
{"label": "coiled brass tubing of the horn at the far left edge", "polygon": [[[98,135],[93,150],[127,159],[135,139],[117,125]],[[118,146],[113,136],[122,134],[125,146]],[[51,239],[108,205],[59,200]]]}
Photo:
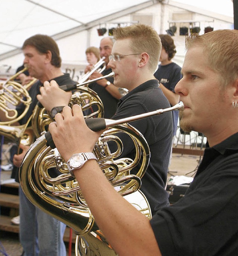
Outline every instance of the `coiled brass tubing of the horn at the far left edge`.
{"label": "coiled brass tubing of the horn at the far left edge", "polygon": [[[37,79],[33,79],[24,86],[14,81],[14,79],[19,74],[23,73],[27,69],[28,67],[25,67],[10,77],[9,80],[7,80],[7,82],[3,85],[3,88],[0,90],[0,110],[5,113],[7,119],[7,121],[1,121],[0,125],[10,125],[19,121],[23,116],[26,115],[29,109],[31,97],[29,96],[28,88],[34,84]],[[25,109],[21,115],[17,116],[15,107],[20,103],[25,105]],[[9,104],[13,107],[9,107]]]}

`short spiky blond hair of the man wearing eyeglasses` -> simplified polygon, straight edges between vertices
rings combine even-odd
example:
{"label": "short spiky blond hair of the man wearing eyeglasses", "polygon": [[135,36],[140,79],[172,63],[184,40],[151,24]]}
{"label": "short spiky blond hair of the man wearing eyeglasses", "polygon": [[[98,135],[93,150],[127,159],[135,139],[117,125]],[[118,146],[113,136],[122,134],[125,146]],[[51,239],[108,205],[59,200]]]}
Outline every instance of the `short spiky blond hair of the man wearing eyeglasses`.
{"label": "short spiky blond hair of the man wearing eyeglasses", "polygon": [[149,68],[155,71],[161,53],[161,40],[157,32],[144,24],[119,27],[113,31],[113,37],[119,39],[131,39],[131,49],[134,53],[146,52],[149,54]]}

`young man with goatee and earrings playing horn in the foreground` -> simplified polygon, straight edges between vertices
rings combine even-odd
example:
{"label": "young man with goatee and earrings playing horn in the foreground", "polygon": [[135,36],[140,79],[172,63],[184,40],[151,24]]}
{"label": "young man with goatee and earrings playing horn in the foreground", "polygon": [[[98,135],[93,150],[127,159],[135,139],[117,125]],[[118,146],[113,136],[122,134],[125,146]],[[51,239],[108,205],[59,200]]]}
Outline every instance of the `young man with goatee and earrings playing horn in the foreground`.
{"label": "young man with goatee and earrings playing horn in the foreground", "polygon": [[[238,255],[237,41],[238,31],[230,29],[187,38],[183,78],[175,88],[184,103],[180,125],[205,134],[209,148],[176,204],[161,208],[149,221],[115,191],[95,160],[73,171],[118,255]],[[101,132],[87,127],[80,106],[65,107],[55,121],[49,130],[65,161],[92,152]]]}

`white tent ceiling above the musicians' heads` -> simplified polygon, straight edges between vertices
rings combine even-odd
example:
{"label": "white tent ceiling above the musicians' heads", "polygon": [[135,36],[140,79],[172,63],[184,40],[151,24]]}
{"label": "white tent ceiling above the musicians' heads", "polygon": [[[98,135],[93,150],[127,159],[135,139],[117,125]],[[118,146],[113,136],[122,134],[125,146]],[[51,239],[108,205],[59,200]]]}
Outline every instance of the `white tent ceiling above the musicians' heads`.
{"label": "white tent ceiling above the musicians' heads", "polygon": [[233,22],[232,0],[0,0],[0,61],[19,54],[34,34],[59,40],[161,3]]}

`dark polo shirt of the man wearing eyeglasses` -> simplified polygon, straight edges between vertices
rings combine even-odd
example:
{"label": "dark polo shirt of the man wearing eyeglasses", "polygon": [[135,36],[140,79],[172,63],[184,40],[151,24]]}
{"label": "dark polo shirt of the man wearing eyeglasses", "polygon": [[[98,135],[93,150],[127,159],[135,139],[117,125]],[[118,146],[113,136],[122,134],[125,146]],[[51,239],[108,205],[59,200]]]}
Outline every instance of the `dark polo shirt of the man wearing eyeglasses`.
{"label": "dark polo shirt of the man wearing eyeglasses", "polygon": [[[112,119],[117,120],[167,107],[170,107],[170,104],[163,91],[158,87],[158,81],[152,79],[123,96]],[[167,112],[129,124],[144,135],[151,152],[147,171],[141,179],[141,191],[147,197],[152,214],[154,214],[160,207],[168,205],[168,193],[165,191],[165,184],[173,134],[172,113]],[[120,157],[134,159],[135,147],[132,141],[122,134],[119,134],[119,138],[123,141],[124,146]],[[110,145],[110,149],[113,152],[115,146]],[[135,174],[137,170],[138,166],[132,170],[132,174]]]}

